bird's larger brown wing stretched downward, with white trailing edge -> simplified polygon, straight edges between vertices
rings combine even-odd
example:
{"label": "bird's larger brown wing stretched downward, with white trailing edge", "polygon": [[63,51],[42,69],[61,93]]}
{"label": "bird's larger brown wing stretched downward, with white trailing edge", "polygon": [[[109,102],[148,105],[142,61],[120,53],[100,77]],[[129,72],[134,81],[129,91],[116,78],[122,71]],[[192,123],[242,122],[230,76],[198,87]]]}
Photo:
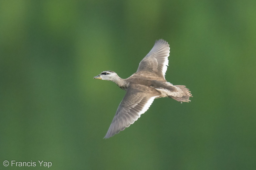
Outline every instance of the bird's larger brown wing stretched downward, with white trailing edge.
{"label": "bird's larger brown wing stretched downward, with white trailing edge", "polygon": [[132,85],[121,101],[104,138],[112,137],[124,130],[125,127],[133,124],[141,114],[147,111],[158,96],[159,92],[153,88],[143,85]]}

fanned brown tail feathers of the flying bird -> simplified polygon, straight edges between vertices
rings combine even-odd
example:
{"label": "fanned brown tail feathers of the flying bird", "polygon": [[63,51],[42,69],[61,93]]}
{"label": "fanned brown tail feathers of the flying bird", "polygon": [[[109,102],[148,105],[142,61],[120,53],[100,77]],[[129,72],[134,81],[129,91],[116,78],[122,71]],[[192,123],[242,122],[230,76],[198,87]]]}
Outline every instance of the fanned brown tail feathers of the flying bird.
{"label": "fanned brown tail feathers of the flying bird", "polygon": [[186,88],[186,86],[183,85],[175,85],[177,88],[177,95],[171,95],[168,96],[169,98],[175,99],[179,102],[190,102],[189,97],[193,97],[190,94],[189,89]]}

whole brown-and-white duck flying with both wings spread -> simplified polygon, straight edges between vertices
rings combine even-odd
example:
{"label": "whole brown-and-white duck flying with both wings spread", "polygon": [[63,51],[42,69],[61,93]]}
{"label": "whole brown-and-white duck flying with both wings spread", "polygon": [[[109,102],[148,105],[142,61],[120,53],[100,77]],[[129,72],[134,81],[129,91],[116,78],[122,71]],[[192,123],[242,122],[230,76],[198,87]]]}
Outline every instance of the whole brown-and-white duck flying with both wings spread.
{"label": "whole brown-and-white duck flying with both wings spread", "polygon": [[158,40],[140,62],[138,70],[127,79],[114,71],[102,71],[94,79],[115,82],[126,94],[104,138],[109,138],[133,124],[145,113],[154,99],[168,97],[179,102],[189,102],[192,97],[183,85],[173,85],[165,80],[170,48],[165,40]]}

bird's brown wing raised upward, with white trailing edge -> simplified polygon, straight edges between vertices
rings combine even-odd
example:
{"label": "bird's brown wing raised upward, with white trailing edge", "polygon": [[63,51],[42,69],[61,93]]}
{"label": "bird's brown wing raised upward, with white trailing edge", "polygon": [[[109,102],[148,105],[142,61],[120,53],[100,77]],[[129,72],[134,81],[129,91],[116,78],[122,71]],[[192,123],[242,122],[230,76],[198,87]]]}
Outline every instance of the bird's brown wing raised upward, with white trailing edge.
{"label": "bird's brown wing raised upward, with white trailing edge", "polygon": [[152,50],[140,62],[137,72],[149,71],[165,79],[169,53],[170,48],[168,42],[162,39],[156,41]]}

